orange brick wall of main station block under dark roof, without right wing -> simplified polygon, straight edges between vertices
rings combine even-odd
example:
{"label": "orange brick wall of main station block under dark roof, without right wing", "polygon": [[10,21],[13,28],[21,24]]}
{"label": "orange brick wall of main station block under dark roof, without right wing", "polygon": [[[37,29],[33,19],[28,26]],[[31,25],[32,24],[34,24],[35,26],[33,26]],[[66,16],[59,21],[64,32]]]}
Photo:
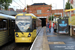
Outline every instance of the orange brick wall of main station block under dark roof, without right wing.
{"label": "orange brick wall of main station block under dark roof, without right wing", "polygon": [[[37,10],[41,10],[41,14],[37,14]],[[51,5],[27,6],[27,12],[33,13],[38,17],[48,16],[49,13],[52,12],[52,7],[51,7]]]}

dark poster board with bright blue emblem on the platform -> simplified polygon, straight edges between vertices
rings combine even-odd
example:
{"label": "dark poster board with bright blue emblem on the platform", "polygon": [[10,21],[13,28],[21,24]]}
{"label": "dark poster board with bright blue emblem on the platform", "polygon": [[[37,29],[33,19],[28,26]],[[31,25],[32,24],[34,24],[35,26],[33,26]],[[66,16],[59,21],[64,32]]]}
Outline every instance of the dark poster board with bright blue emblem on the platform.
{"label": "dark poster board with bright blue emblem on the platform", "polygon": [[69,33],[68,19],[58,19],[58,33],[60,34]]}

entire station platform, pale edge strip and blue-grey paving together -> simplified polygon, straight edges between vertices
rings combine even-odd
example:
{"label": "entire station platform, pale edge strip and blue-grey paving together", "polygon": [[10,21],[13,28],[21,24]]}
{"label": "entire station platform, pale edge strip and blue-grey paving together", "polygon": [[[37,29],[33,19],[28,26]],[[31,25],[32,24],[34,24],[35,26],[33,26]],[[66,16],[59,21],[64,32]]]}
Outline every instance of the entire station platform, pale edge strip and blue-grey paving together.
{"label": "entire station platform, pale edge strip and blue-grey paving together", "polygon": [[53,28],[51,33],[46,33],[46,27],[43,27],[30,50],[75,50],[75,37],[55,34]]}

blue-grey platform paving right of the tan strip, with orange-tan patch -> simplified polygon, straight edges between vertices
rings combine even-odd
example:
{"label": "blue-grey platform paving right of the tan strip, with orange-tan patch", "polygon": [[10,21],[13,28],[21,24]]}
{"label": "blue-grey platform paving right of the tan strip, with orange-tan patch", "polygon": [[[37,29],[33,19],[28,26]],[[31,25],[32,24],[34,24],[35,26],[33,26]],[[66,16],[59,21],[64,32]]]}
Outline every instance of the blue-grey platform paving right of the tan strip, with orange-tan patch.
{"label": "blue-grey platform paving right of the tan strip, with orange-tan patch", "polygon": [[75,50],[75,37],[68,34],[46,33],[50,50]]}

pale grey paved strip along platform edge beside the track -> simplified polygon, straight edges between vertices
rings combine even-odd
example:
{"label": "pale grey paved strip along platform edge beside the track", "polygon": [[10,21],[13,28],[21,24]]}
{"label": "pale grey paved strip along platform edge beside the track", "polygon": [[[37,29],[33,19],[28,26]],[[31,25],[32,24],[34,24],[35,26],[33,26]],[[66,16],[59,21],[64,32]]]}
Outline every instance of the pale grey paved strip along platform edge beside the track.
{"label": "pale grey paved strip along platform edge beside the track", "polygon": [[30,50],[42,50],[42,46],[43,46],[43,30],[44,30],[44,28],[42,28],[39,31],[39,34],[37,35],[36,39],[34,40]]}

